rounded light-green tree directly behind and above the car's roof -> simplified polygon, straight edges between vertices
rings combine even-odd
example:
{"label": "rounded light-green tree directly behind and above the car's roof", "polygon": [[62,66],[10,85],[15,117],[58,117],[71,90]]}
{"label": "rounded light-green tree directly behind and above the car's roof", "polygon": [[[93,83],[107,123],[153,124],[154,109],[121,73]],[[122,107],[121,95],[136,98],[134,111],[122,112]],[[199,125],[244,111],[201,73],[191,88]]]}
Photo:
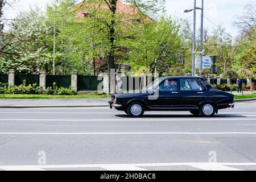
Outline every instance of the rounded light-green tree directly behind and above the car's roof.
{"label": "rounded light-green tree directly behind and above the car's roof", "polygon": [[143,24],[134,24],[130,31],[133,32],[134,39],[123,43],[129,51],[127,60],[121,63],[130,65],[132,71],[147,67],[151,73],[157,69],[158,73],[162,74],[179,63],[179,25],[171,18],[162,16],[159,22],[146,21]]}

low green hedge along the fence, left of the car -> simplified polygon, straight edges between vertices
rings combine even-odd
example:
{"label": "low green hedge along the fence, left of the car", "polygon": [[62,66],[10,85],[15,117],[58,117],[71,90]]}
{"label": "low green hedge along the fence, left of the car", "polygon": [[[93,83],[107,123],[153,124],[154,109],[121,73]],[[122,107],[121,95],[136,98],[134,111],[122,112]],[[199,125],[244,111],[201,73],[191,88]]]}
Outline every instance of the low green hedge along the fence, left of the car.
{"label": "low green hedge along the fence, left of the car", "polygon": [[43,90],[40,88],[36,83],[35,84],[29,84],[26,86],[26,80],[22,82],[19,86],[9,86],[8,84],[3,84],[0,82],[0,94],[49,94],[49,95],[75,95],[77,94],[74,90],[71,88],[58,88],[56,83],[53,83],[53,86],[46,88],[46,90]]}

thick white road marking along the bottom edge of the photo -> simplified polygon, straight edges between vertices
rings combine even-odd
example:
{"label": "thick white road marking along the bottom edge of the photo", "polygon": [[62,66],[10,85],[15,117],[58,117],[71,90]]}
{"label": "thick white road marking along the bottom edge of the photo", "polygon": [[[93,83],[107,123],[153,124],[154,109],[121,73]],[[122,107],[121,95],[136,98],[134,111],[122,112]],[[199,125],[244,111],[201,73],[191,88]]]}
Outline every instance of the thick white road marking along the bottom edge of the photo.
{"label": "thick white road marking along the bottom edge of the photo", "polygon": [[[124,170],[141,170],[143,167],[164,167],[164,166],[191,166],[207,170],[241,170],[226,166],[256,166],[256,163],[139,163],[139,164],[75,164],[75,165],[38,165],[38,166],[0,166],[0,169],[6,170],[40,170],[47,168],[92,168],[101,167],[105,169],[114,169],[117,171]],[[118,167],[118,168],[117,168]],[[144,169],[146,170],[146,169]]]}

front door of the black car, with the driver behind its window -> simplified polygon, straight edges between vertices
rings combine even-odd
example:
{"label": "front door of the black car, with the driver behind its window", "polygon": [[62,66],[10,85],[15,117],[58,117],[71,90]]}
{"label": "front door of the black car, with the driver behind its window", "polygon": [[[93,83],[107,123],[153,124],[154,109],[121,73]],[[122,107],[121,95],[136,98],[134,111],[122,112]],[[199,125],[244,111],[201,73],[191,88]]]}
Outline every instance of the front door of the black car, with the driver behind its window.
{"label": "front door of the black car, with the driver behind its window", "polygon": [[179,107],[179,79],[166,79],[160,82],[158,98],[148,100],[151,109],[168,109]]}

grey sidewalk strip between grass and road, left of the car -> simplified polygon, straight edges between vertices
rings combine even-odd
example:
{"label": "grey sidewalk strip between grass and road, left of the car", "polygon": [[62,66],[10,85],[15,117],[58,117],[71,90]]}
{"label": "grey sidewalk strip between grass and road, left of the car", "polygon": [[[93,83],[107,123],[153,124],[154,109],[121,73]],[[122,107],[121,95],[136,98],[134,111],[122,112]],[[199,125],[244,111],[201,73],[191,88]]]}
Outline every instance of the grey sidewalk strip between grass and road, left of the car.
{"label": "grey sidewalk strip between grass and road, left of the car", "polygon": [[75,99],[2,99],[0,108],[28,107],[97,107],[108,106],[110,98],[75,98]]}

